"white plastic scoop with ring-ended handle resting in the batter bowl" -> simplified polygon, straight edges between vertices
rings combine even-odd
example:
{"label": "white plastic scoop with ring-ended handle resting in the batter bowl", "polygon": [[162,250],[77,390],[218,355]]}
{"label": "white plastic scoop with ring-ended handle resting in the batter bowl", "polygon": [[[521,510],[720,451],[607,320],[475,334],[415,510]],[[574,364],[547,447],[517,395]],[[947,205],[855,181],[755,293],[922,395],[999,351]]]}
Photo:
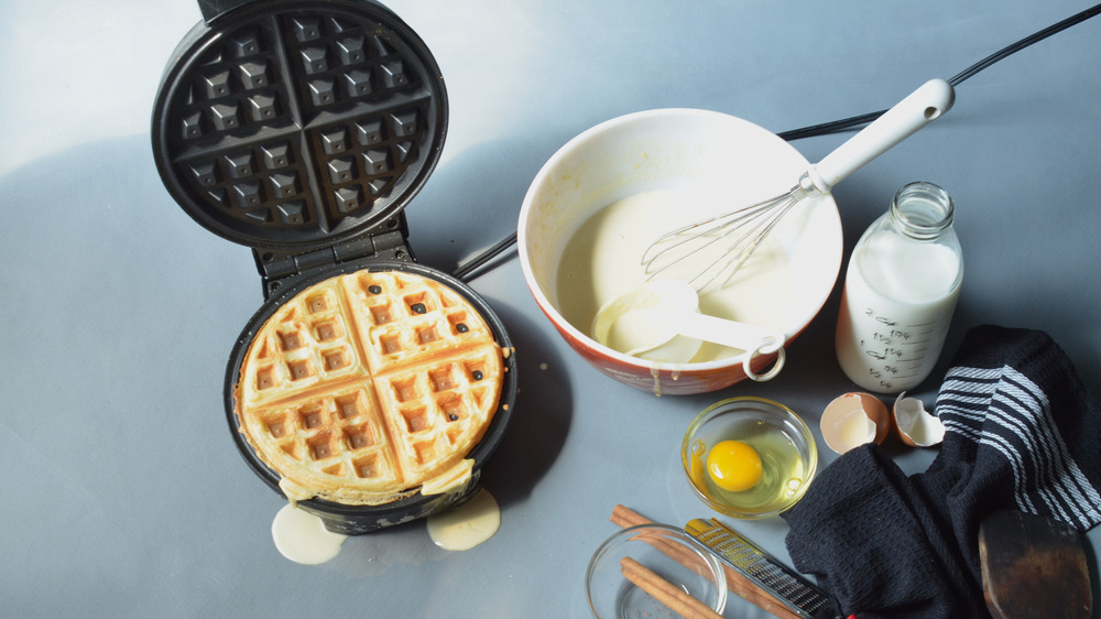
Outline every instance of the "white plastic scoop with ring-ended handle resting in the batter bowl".
{"label": "white plastic scoop with ring-ended handle resting in the batter bowl", "polygon": [[[606,303],[592,319],[592,337],[625,355],[650,361],[687,363],[704,341],[745,350],[746,376],[768,380],[784,365],[784,334],[699,313],[699,297],[679,280],[647,282]],[[749,371],[755,355],[776,352],[776,363],[765,374]]]}

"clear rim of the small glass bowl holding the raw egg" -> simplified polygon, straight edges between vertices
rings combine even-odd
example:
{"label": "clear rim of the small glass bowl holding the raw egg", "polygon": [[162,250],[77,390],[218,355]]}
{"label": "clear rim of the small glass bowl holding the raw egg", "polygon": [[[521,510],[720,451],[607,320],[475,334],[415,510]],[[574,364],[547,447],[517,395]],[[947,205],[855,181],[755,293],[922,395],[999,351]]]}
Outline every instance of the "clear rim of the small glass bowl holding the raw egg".
{"label": "clear rim of the small glass bowl holding the raw egg", "polygon": [[[749,512],[733,508],[729,504],[716,501],[707,496],[706,492],[699,489],[696,481],[691,478],[691,464],[689,463],[689,453],[691,449],[691,437],[695,435],[696,431],[705,422],[710,421],[719,413],[728,412],[726,409],[729,406],[734,406],[739,403],[752,402],[756,404],[763,404],[767,409],[772,409],[775,412],[782,413],[783,417],[789,422],[798,430],[799,434],[803,435],[804,442],[807,446],[807,474],[806,481],[799,487],[799,490],[788,498],[781,507],[762,512]],[[734,398],[727,398],[715,402],[713,404],[707,406],[699,414],[693,419],[691,423],[688,424],[688,428],[685,430],[684,437],[680,439],[680,466],[684,469],[685,478],[688,480],[688,487],[691,488],[693,493],[696,495],[705,504],[711,509],[723,513],[726,515],[738,518],[740,520],[761,520],[764,518],[771,518],[778,515],[784,511],[791,509],[795,503],[803,499],[804,495],[807,493],[807,489],[810,484],[815,480],[815,476],[818,473],[818,444],[815,441],[815,435],[810,431],[810,426],[807,425],[803,417],[799,416],[794,410],[775,400],[770,400],[767,398],[759,398],[756,395],[739,395]]]}

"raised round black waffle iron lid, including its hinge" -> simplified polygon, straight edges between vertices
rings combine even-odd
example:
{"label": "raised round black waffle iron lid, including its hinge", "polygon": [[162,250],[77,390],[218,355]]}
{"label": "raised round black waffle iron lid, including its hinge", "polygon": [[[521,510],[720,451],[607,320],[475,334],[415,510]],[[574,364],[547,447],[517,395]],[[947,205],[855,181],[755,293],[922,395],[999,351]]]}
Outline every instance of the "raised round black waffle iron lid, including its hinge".
{"label": "raised round black waffle iron lid, including its hinge", "polygon": [[447,126],[419,36],[371,0],[199,4],[204,21],[153,108],[154,156],[176,202],[252,248],[265,281],[315,260],[406,258],[402,210]]}

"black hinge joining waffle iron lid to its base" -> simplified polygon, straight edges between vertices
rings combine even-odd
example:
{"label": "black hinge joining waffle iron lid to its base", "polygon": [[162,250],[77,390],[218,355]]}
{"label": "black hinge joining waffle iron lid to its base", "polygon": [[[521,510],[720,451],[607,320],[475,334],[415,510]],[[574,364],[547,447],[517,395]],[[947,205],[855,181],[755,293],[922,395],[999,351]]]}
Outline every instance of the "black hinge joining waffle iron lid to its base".
{"label": "black hinge joining waffle iron lid to its base", "polygon": [[377,232],[312,251],[253,249],[263,280],[264,300],[281,292],[293,280],[361,259],[413,261],[403,229]]}

